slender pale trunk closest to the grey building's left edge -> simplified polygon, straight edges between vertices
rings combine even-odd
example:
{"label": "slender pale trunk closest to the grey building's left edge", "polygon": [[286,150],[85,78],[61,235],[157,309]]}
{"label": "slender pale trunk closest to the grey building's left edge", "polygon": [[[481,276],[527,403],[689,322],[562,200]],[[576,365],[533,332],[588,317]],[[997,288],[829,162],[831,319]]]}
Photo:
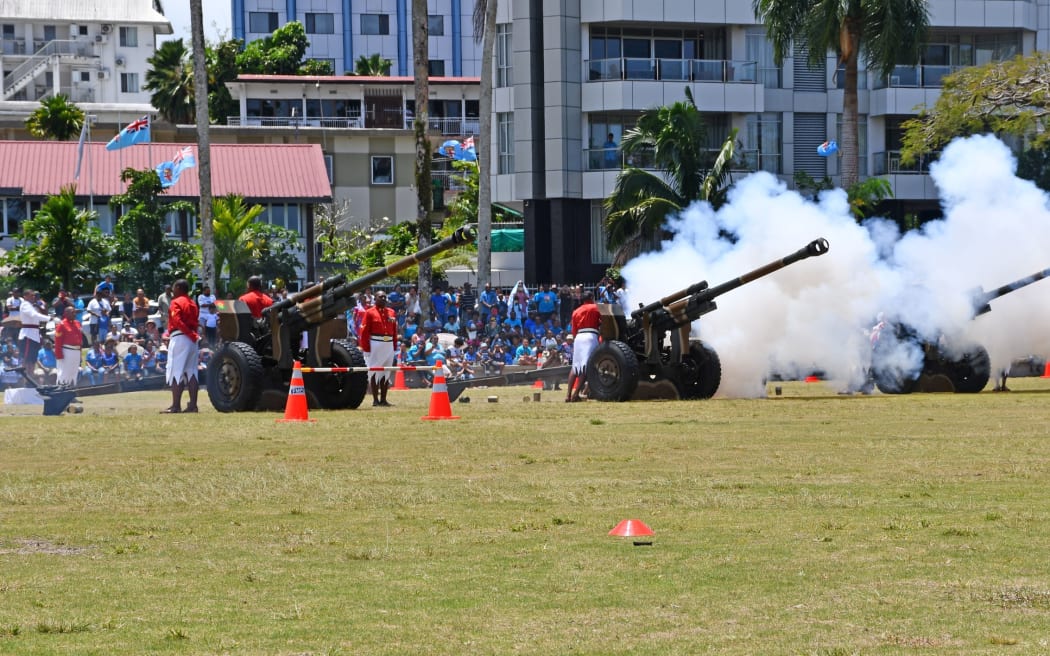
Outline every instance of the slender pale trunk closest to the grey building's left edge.
{"label": "slender pale trunk closest to the grey building's left edge", "polygon": [[492,137],[492,64],[496,49],[497,0],[478,0],[484,5],[485,27],[481,46],[481,102],[478,136],[478,290],[485,289],[492,278],[492,161],[496,140]]}

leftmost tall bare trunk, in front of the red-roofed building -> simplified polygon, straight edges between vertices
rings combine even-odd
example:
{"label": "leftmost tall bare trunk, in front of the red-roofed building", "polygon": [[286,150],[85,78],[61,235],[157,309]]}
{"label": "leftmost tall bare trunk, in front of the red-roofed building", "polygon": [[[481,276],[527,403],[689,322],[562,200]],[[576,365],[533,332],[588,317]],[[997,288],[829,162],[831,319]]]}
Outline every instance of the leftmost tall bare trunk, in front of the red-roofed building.
{"label": "leftmost tall bare trunk, in front of the red-roofed building", "polygon": [[204,55],[202,0],[190,0],[190,30],[193,43],[193,94],[196,102],[197,176],[201,185],[201,278],[215,285],[215,240],[211,229],[211,142],[208,135],[208,69]]}

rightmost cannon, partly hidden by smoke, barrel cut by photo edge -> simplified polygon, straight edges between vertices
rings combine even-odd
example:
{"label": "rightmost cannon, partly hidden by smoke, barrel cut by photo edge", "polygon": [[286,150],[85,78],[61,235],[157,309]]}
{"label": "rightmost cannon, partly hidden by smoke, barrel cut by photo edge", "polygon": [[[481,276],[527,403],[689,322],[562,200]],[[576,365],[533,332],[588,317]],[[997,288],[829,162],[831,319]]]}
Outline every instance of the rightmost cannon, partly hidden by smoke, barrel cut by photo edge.
{"label": "rightmost cannon, partly hidden by smoke, barrel cut by photo edge", "polygon": [[[1050,276],[1044,269],[995,288],[978,289],[971,296],[973,318],[991,312],[991,301]],[[957,392],[976,394],[991,378],[991,361],[981,344],[929,341],[899,322],[880,323],[872,338],[872,380],[883,394]]]}

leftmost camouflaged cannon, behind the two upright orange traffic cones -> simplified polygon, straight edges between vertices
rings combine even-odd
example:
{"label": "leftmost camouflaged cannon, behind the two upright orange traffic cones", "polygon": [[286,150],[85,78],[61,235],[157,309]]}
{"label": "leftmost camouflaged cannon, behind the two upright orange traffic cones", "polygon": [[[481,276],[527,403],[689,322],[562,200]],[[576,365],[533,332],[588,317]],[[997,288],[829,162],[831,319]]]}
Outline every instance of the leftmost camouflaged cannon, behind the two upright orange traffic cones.
{"label": "leftmost camouflaged cannon, behind the two upright orange traffic cones", "polygon": [[[224,343],[208,363],[208,398],[220,412],[280,409],[296,361],[313,367],[363,367],[364,355],[346,340],[345,313],[354,295],[438,253],[470,244],[472,228],[405,256],[360,278],[338,275],[293,294],[254,319],[240,300],[217,301]],[[306,380],[307,402],[315,408],[356,408],[368,393],[368,374],[317,373]]]}

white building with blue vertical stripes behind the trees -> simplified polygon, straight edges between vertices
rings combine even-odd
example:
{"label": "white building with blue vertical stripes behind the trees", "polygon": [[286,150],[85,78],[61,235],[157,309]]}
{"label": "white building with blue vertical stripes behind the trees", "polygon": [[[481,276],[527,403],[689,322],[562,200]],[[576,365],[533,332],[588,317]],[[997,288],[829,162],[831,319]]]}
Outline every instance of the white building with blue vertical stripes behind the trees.
{"label": "white building with blue vertical stripes behind the trees", "polygon": [[[436,77],[477,77],[481,48],[474,37],[474,0],[427,0],[429,70]],[[232,0],[233,36],[246,42],[299,21],[307,57],[328,60],[337,75],[354,72],[360,57],[392,62],[391,75],[413,75],[412,0]]]}

